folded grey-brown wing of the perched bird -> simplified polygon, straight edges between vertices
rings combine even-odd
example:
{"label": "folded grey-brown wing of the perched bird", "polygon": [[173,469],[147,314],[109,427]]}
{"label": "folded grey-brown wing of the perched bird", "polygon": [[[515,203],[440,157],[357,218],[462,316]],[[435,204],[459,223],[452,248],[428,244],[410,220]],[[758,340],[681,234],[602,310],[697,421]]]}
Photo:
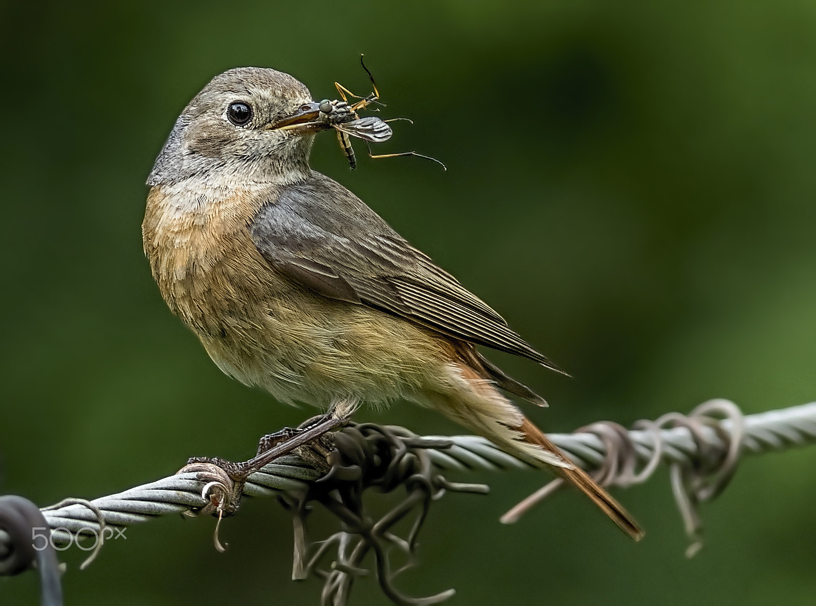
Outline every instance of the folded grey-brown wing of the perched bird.
{"label": "folded grey-brown wing of the perched bird", "polygon": [[561,372],[486,303],[326,176],[313,172],[280,190],[255,216],[251,234],[271,265],[314,292]]}

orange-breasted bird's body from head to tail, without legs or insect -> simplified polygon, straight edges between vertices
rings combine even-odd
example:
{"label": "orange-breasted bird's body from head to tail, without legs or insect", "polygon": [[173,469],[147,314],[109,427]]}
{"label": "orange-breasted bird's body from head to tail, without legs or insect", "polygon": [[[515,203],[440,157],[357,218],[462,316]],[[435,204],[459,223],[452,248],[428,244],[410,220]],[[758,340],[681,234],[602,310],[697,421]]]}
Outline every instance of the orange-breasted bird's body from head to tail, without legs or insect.
{"label": "orange-breasted bird's body from head to tail, without legs or insect", "polygon": [[309,167],[319,105],[274,69],[220,74],[147,184],[144,251],[167,305],[230,377],[285,403],[435,408],[643,531],[504,394],[543,399],[486,345],[558,368],[348,189]]}

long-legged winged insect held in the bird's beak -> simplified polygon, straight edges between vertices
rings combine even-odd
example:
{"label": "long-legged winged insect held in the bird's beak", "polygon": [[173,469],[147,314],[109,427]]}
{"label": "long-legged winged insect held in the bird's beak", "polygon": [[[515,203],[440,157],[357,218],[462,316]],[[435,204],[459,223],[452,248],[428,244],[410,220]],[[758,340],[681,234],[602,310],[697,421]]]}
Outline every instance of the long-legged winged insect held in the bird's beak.
{"label": "long-legged winged insect held in the bird's beak", "polygon": [[[439,163],[441,164],[442,168],[447,170],[446,166],[439,162],[439,160],[436,158],[431,158],[430,156],[425,156],[423,154],[417,154],[415,151],[401,152],[399,154],[371,154],[371,149],[368,146],[369,142],[382,143],[383,141],[387,141],[391,138],[392,130],[391,127],[388,126],[389,122],[394,122],[395,120],[407,120],[412,124],[413,122],[411,122],[408,118],[392,118],[391,120],[382,120],[375,116],[360,118],[359,114],[357,114],[359,110],[366,109],[369,105],[375,104],[384,106],[384,104],[379,101],[379,91],[377,90],[377,84],[374,81],[374,76],[363,62],[362,55],[360,56],[360,65],[362,65],[362,69],[366,70],[366,74],[368,74],[368,78],[371,81],[371,87],[374,89],[371,94],[366,97],[361,97],[355,95],[352,91],[349,91],[348,88],[344,87],[339,82],[335,82],[335,87],[337,88],[337,92],[339,93],[341,100],[322,100],[320,102],[320,114],[318,114],[318,121],[326,123],[328,126],[334,128],[337,132],[337,140],[340,144],[340,149],[343,149],[343,153],[348,160],[348,166],[351,167],[352,170],[357,167],[357,157],[354,154],[354,148],[352,147],[351,141],[351,137],[357,137],[358,139],[366,141],[366,148],[368,149],[369,158],[419,156],[419,158],[428,158],[428,160]],[[358,101],[353,104],[349,104],[348,96],[354,97],[358,99]]]}

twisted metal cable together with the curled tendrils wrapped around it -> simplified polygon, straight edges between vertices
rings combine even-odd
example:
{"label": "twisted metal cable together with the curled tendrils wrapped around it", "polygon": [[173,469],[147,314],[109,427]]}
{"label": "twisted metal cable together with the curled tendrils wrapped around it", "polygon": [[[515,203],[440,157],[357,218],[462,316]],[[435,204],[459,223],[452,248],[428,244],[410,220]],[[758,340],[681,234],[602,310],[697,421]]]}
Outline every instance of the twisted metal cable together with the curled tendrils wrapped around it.
{"label": "twisted metal cable together with the curled tendrils wrapped around it", "polygon": [[[352,430],[358,434],[353,439],[348,438]],[[341,434],[348,439],[337,439]],[[481,485],[450,483],[440,472],[530,467],[486,439],[473,435],[419,437],[405,428],[371,424],[348,427],[333,435],[335,439],[324,443],[324,447],[317,448],[317,451],[312,447],[301,447],[295,453],[276,459],[250,475],[242,488],[246,496],[281,497],[285,506],[293,510],[293,577],[303,578],[310,572],[317,573],[326,579],[322,604],[346,604],[353,580],[367,572],[360,568],[362,557],[373,549],[378,558],[376,576],[394,603],[434,604],[450,597],[452,590],[425,599],[399,594],[391,581],[401,571],[389,572],[388,559],[381,558],[386,550],[377,541],[386,541],[386,547],[397,546],[409,556],[411,564],[416,533],[432,499],[441,497],[446,490],[486,492],[486,487]],[[672,491],[686,532],[692,539],[687,554],[693,555],[701,545],[697,504],[711,500],[725,488],[743,454],[762,454],[816,443],[816,403],[743,416],[734,403],[712,400],[695,408],[688,416],[672,412],[656,421],[638,421],[632,430],[601,421],[573,434],[548,434],[548,437],[571,461],[590,471],[605,486],[626,487],[642,483],[654,474],[660,463],[670,466]],[[342,445],[344,441],[345,446]],[[386,451],[389,451],[387,455]],[[330,466],[326,465],[327,459],[333,461]],[[379,468],[373,471],[373,468],[366,469],[366,465]],[[81,537],[97,537],[94,554],[86,561],[88,564],[104,538],[109,538],[106,532],[113,535],[131,524],[167,514],[214,513],[220,516],[228,493],[226,475],[223,471],[217,473],[218,468],[212,473],[200,467],[185,469],[180,474],[93,501],[72,499],[43,508],[40,524],[47,524],[55,546],[64,546]],[[328,478],[334,483],[326,483]],[[342,488],[342,483],[334,481],[337,479],[346,479],[351,482],[348,486],[356,488]],[[554,480],[522,501],[504,515],[502,521],[514,522],[534,502],[551,494],[559,483],[560,480]],[[421,503],[419,518],[410,536],[404,540],[392,535],[388,532],[390,525],[383,525],[386,518],[380,520],[379,535],[372,535],[375,524],[361,522],[366,519],[361,503],[362,491],[377,486],[381,492],[388,492],[384,487],[392,490],[400,484],[406,486],[405,502],[409,506],[401,506],[401,510],[395,508],[391,512],[394,520],[389,524],[407,515],[416,503]],[[321,486],[323,488],[319,488]],[[344,491],[347,493],[344,498],[337,500],[332,496]],[[304,532],[309,500],[322,502],[339,515],[343,523],[343,529],[323,542],[317,553],[311,556],[308,551],[316,544],[308,545]],[[19,503],[16,502],[16,506],[19,507]],[[354,513],[353,518],[348,512]],[[24,540],[31,542],[30,530],[21,535],[19,529],[13,527],[8,518],[0,515],[0,574],[20,572],[21,547],[17,543],[23,535]],[[356,544],[352,542],[353,537],[357,537]],[[217,537],[215,543],[220,546]],[[326,555],[327,546],[336,546],[338,555],[331,570],[322,571],[318,564]],[[11,566],[11,561],[16,564]]]}

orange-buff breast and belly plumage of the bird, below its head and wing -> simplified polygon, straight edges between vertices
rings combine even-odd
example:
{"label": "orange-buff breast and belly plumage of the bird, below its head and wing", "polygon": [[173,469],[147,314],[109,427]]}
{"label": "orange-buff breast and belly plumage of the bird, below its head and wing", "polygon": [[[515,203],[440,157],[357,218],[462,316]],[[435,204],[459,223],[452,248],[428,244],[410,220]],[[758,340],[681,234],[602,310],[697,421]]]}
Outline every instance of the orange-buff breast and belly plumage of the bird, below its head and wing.
{"label": "orange-buff breast and belly plumage of the bird, below its head and wing", "polygon": [[320,296],[280,274],[251,236],[273,185],[157,185],[144,251],[171,310],[228,375],[283,401],[387,402],[419,389],[446,359],[431,331],[369,307]]}

